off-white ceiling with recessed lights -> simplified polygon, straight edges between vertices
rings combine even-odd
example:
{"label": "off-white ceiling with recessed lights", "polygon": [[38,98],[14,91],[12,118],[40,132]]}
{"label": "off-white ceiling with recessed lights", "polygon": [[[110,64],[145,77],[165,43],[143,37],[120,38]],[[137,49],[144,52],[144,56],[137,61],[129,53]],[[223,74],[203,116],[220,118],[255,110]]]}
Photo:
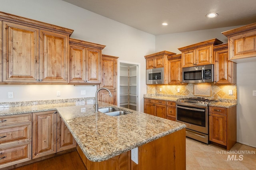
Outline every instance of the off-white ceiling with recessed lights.
{"label": "off-white ceiling with recessed lights", "polygon": [[[256,22],[255,0],[64,0],[153,35]],[[210,12],[217,18],[206,18]],[[167,22],[167,26],[162,23]]]}

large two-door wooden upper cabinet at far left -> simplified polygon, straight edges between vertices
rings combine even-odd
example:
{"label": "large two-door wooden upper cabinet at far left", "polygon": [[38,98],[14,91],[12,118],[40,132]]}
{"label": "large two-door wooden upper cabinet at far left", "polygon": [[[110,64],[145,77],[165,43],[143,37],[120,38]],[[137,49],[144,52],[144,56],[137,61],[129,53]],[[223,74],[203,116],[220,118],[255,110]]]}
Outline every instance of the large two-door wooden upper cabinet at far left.
{"label": "large two-door wooden upper cabinet at far left", "polygon": [[1,82],[68,83],[68,37],[72,29],[4,12],[0,12],[0,25]]}

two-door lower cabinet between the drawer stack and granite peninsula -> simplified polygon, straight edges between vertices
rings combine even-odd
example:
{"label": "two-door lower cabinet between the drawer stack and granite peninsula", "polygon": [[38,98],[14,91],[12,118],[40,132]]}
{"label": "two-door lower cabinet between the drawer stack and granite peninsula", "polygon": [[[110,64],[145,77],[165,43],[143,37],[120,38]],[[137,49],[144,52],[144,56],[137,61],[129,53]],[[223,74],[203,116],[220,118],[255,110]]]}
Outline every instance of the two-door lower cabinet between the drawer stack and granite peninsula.
{"label": "two-door lower cabinet between the drawer stack and granite peninsula", "polygon": [[56,111],[33,113],[32,159],[76,147],[76,141]]}

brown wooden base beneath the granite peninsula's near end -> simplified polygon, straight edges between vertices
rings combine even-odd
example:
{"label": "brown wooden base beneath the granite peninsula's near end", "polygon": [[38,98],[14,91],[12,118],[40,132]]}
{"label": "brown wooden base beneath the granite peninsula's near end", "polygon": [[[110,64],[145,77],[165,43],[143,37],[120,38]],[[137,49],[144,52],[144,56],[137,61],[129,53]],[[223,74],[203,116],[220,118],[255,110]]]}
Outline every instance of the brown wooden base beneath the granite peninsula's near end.
{"label": "brown wooden base beneath the granite peninsula's near end", "polygon": [[181,129],[138,147],[138,164],[130,150],[105,161],[92,162],[77,146],[87,170],[184,170],[186,169],[186,129]]}

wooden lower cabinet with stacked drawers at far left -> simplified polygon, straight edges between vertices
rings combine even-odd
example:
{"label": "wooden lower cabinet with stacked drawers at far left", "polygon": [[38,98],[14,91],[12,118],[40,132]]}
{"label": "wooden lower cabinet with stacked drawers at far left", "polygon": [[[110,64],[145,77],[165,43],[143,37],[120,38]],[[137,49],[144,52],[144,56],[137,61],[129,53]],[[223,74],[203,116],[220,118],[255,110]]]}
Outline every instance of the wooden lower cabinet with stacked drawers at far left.
{"label": "wooden lower cabinet with stacked drawers at far left", "polygon": [[0,116],[0,169],[31,160],[31,115]]}

